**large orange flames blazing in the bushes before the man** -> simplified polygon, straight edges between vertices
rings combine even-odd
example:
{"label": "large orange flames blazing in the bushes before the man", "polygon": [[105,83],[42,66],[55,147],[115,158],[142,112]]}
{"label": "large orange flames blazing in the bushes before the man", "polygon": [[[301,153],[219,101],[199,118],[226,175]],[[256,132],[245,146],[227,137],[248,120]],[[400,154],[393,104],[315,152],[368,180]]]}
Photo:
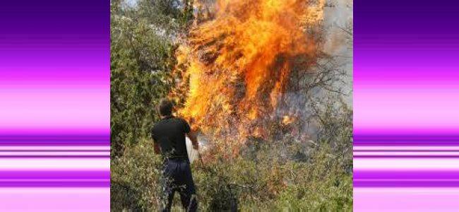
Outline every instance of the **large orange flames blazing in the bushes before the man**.
{"label": "large orange flames blazing in the bushes before the man", "polygon": [[[266,137],[292,70],[307,70],[316,42],[306,31],[320,25],[324,0],[219,0],[210,20],[197,21],[178,49],[186,94],[179,113],[204,134]],[[202,6],[203,4],[198,4]],[[280,116],[282,119],[282,116]]]}

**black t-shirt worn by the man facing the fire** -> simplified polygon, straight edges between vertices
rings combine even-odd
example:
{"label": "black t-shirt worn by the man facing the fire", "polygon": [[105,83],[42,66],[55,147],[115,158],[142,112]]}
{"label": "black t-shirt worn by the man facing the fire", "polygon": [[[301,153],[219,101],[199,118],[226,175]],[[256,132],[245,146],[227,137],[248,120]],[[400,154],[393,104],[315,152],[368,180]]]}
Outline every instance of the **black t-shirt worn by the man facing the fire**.
{"label": "black t-shirt worn by the man facing the fire", "polygon": [[190,125],[184,119],[165,117],[151,130],[155,143],[159,143],[162,155],[166,158],[188,159],[185,134],[190,132]]}

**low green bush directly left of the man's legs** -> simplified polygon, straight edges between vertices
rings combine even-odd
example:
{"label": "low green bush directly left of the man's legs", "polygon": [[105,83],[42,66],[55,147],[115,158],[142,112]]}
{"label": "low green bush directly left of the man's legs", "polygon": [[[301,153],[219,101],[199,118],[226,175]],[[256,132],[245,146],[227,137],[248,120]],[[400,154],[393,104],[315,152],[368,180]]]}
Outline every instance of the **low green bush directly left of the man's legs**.
{"label": "low green bush directly left of the man's legs", "polygon": [[126,148],[124,154],[112,158],[111,211],[151,211],[157,208],[161,158],[153,153],[150,141]]}

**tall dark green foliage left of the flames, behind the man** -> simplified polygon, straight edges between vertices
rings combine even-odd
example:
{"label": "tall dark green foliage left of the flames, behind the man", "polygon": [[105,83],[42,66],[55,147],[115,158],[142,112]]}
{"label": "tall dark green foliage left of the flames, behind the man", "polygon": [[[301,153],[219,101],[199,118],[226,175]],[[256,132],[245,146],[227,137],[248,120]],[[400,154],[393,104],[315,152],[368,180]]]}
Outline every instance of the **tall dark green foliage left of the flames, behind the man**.
{"label": "tall dark green foliage left of the flames, behind the man", "polygon": [[[110,100],[114,156],[148,134],[148,126],[157,117],[152,105],[174,85],[170,76],[175,64],[174,45],[165,33],[170,28],[162,30],[165,25],[174,25],[174,17],[179,16],[179,11],[167,9],[174,8],[174,2],[140,1],[139,9],[121,9],[119,3],[112,4]],[[150,13],[157,18],[151,18]]]}

